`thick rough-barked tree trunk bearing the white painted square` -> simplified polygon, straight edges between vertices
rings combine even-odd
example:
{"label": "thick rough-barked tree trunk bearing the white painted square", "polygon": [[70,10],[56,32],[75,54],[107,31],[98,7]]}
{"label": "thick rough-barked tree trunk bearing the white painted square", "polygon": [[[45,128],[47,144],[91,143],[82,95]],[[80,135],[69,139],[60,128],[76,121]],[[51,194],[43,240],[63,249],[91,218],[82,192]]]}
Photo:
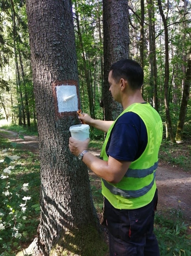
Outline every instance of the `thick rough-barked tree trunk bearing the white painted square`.
{"label": "thick rough-barked tree trunk bearing the white painted square", "polygon": [[[41,161],[41,219],[33,244],[43,255],[50,255],[58,241],[61,252],[73,239],[76,255],[85,255],[84,241],[92,231],[98,234],[99,224],[87,167],[68,148],[69,127],[79,123],[76,110],[80,107],[72,4],[27,0],[26,8]],[[68,100],[63,111],[59,93],[66,93],[70,86],[68,90],[76,90],[77,106]],[[92,248],[95,253],[90,255],[101,255],[101,246]]]}

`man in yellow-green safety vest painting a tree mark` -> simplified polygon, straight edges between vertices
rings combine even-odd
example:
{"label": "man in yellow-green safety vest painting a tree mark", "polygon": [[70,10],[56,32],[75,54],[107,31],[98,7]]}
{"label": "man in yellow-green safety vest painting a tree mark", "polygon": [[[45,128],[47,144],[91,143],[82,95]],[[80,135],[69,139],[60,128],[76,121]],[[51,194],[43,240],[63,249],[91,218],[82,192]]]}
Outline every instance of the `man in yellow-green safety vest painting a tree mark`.
{"label": "man in yellow-green safety vest painting a tree mark", "polygon": [[108,81],[114,100],[124,111],[114,122],[94,120],[88,114],[79,117],[107,133],[100,159],[88,152],[89,139],[69,138],[69,148],[101,177],[110,256],[159,256],[153,224],[162,121],[142,98],[143,69],[136,61],[114,63]]}

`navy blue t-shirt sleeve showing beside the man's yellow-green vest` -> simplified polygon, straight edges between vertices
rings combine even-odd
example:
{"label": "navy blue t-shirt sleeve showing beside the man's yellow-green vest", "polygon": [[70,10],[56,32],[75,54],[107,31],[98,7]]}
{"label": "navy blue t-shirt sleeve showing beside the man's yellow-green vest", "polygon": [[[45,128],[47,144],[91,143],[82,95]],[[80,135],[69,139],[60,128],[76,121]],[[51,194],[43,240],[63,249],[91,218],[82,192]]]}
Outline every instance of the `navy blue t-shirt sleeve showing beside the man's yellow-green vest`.
{"label": "navy blue t-shirt sleeve showing beside the man's yellow-green vest", "polygon": [[116,121],[106,145],[106,153],[117,160],[135,161],[148,142],[146,126],[134,112],[126,112]]}

